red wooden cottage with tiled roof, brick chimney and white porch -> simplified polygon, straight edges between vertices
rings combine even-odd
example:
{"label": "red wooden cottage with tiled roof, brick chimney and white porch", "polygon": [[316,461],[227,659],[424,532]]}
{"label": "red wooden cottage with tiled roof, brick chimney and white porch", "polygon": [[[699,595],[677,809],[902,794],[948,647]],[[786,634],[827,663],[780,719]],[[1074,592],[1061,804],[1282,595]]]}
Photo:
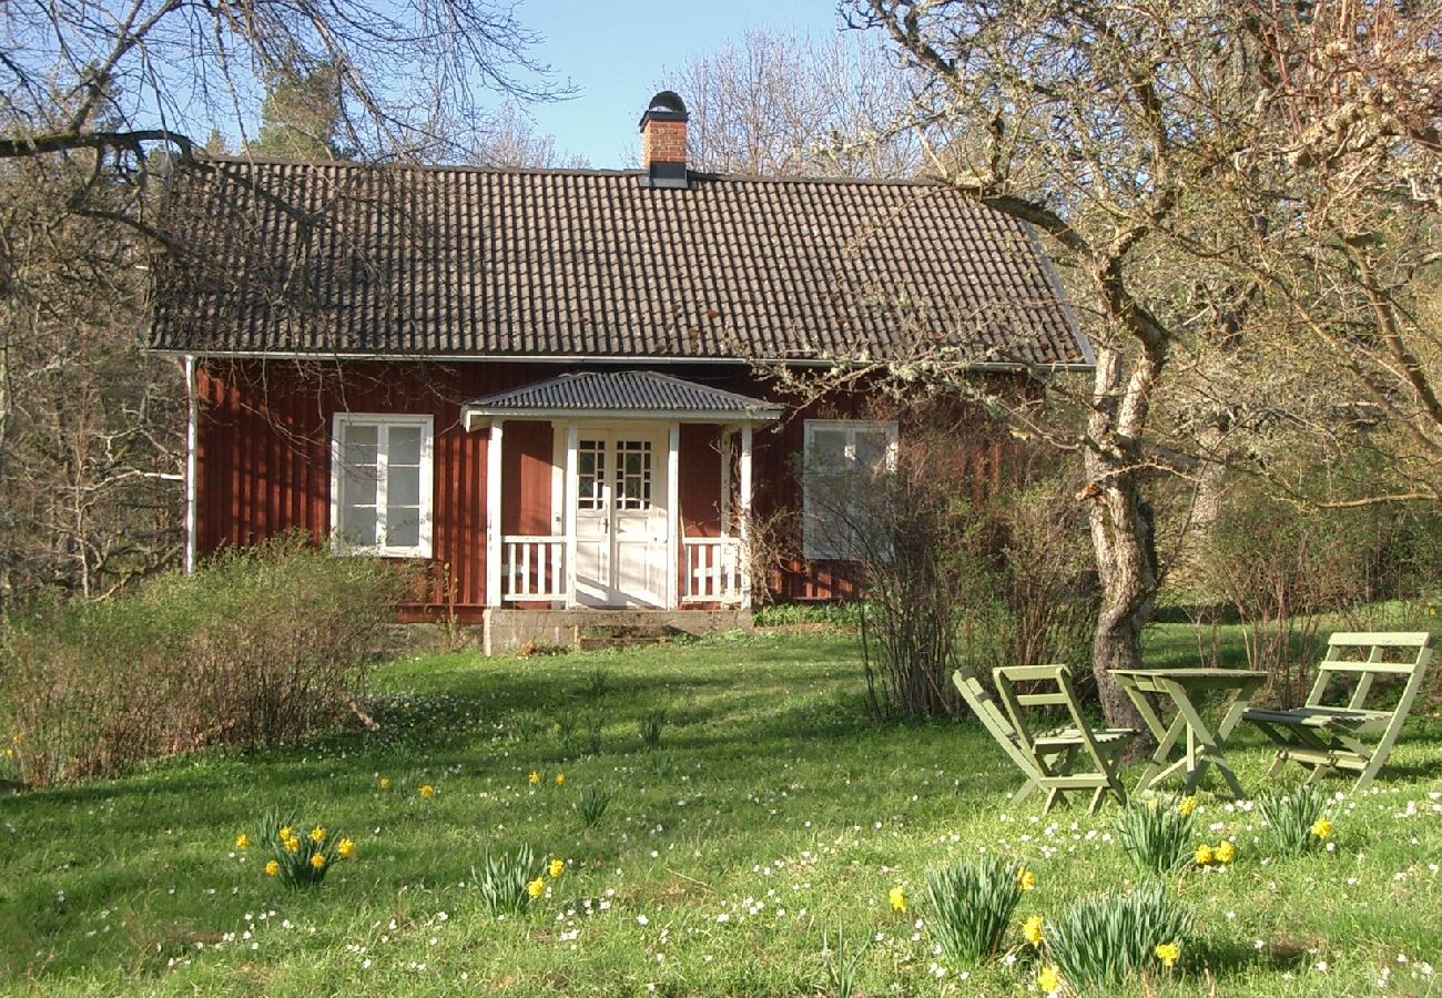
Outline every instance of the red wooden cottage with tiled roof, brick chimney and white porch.
{"label": "red wooden cottage with tiled roof, brick chimney and white porch", "polygon": [[189,375],[187,565],[297,528],[421,560],[407,610],[499,650],[587,611],[734,620],[754,516],[793,506],[766,584],[845,597],[808,474],[891,460],[897,425],[792,411],[754,362],[1092,362],[1025,225],[924,182],[696,173],[685,128],[659,94],[640,170],[177,170],[150,345]]}

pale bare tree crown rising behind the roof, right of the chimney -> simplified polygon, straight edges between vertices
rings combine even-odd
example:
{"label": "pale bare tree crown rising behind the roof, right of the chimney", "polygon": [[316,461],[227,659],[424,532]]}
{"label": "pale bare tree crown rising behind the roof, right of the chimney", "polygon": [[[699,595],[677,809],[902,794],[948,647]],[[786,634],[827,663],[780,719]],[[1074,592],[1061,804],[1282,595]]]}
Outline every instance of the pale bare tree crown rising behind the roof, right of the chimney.
{"label": "pale bare tree crown rising behind the roof, right of the chimney", "polygon": [[691,111],[694,166],[750,176],[903,177],[921,147],[894,125],[908,75],[871,36],[748,32],[663,75]]}

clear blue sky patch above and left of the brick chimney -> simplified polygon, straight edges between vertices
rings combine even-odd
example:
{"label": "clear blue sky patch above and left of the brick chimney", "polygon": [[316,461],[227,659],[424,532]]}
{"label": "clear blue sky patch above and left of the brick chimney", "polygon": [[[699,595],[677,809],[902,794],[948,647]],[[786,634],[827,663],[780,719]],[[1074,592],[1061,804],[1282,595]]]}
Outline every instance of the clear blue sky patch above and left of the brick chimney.
{"label": "clear blue sky patch above and left of the brick chimney", "polygon": [[518,16],[545,36],[535,59],[578,89],[570,101],[525,110],[536,131],[555,137],[557,153],[596,169],[634,163],[640,115],[668,68],[753,29],[819,37],[841,23],[836,0],[525,0]]}

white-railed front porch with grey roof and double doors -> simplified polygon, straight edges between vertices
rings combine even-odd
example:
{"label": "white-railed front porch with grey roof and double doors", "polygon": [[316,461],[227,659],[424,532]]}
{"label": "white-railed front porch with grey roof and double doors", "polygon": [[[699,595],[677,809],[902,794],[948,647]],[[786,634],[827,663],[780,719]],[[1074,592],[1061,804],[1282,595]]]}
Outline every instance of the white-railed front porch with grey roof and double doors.
{"label": "white-railed front porch with grey roof and double doors", "polygon": [[497,392],[461,415],[487,433],[487,620],[750,609],[754,428],[779,407],[619,371]]}

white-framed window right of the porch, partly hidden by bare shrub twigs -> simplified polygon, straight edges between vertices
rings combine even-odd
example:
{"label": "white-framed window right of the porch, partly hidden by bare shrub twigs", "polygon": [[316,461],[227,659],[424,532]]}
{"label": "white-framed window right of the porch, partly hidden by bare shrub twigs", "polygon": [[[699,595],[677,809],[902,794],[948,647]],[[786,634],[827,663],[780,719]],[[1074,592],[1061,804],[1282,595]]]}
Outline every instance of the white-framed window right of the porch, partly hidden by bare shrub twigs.
{"label": "white-framed window right of the porch, partly hidden by bare shrub twigs", "polygon": [[[857,560],[883,552],[878,476],[897,466],[897,424],[875,420],[806,420],[802,454],[803,539],[808,558]],[[862,532],[877,531],[874,536]]]}

